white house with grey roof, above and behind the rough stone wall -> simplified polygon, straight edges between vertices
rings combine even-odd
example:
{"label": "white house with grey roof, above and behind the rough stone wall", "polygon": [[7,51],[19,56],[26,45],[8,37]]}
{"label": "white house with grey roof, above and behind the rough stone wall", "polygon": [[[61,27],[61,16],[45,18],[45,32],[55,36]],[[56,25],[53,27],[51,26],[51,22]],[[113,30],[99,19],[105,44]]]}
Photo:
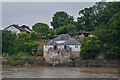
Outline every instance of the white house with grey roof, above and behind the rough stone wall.
{"label": "white house with grey roof, above and behind the rough stone wall", "polygon": [[73,57],[80,56],[81,44],[74,38],[70,37],[68,34],[61,34],[53,40],[50,40],[47,44],[44,45],[44,58],[47,60],[49,57],[49,49],[62,49],[70,48]]}

